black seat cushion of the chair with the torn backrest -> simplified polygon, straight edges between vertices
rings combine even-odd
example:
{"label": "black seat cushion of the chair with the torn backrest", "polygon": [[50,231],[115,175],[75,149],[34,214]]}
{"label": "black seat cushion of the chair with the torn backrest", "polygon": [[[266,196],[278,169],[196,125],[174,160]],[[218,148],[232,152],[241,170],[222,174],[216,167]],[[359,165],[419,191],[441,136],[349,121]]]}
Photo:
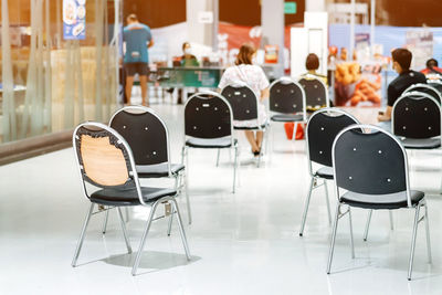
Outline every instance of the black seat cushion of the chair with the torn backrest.
{"label": "black seat cushion of the chair with the torn backrest", "polygon": [[[141,187],[143,199],[151,203],[167,196],[175,196],[176,190]],[[91,201],[105,206],[138,206],[140,201],[136,188],[128,189],[101,189],[91,194]]]}

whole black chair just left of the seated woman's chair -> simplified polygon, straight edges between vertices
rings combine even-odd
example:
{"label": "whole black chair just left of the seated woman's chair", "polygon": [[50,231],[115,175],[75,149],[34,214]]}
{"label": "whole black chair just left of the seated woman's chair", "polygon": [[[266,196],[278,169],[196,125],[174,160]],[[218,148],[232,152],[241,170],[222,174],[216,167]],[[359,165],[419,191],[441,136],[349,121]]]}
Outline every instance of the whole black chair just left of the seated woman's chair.
{"label": "whole black chair just left of the seated woman's chair", "polygon": [[239,145],[233,137],[232,108],[219,93],[200,92],[185,105],[185,146],[182,162],[188,164],[188,149],[234,149],[233,193],[236,185]]}

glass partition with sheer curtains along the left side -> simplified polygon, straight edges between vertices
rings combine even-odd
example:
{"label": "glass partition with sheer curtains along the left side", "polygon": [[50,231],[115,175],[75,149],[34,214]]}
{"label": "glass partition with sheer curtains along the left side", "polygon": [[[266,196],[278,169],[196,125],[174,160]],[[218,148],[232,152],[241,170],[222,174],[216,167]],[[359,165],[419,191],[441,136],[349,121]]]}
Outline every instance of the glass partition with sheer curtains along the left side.
{"label": "glass partition with sheer curtains along the left side", "polygon": [[[108,120],[119,92],[120,6],[1,0],[0,144]],[[84,39],[67,40],[66,24],[70,38]]]}

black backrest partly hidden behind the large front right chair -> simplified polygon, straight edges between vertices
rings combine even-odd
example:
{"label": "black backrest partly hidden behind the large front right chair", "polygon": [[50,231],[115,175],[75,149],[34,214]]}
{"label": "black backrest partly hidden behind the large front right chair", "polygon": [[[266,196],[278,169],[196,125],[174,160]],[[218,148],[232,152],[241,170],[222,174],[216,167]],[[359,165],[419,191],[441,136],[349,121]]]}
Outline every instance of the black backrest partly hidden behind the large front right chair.
{"label": "black backrest partly hidden behind the large front right chair", "polygon": [[306,128],[306,143],[312,173],[311,161],[332,167],[332,146],[336,136],[354,124],[359,122],[339,108],[323,108],[311,116]]}

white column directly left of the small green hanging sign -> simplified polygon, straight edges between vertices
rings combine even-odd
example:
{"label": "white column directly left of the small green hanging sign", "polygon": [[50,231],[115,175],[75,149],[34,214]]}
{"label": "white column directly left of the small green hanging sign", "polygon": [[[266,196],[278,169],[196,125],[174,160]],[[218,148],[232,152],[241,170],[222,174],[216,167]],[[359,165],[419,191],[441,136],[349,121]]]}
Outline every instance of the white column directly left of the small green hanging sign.
{"label": "white column directly left of the small green hanging sign", "polygon": [[262,45],[278,45],[275,75],[284,74],[284,0],[261,0]]}

